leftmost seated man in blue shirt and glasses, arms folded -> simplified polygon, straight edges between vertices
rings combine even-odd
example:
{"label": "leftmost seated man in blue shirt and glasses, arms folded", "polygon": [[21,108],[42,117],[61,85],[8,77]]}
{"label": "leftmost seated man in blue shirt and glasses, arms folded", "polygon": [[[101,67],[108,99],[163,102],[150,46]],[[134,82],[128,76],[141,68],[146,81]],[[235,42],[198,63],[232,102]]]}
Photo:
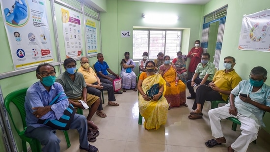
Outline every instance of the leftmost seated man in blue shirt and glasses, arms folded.
{"label": "leftmost seated man in blue shirt and glasses, arms folded", "polygon": [[[63,87],[55,81],[54,66],[43,63],[36,68],[36,78],[40,81],[28,88],[26,93],[26,136],[40,141],[43,152],[60,152],[60,140],[55,134],[55,128],[37,123],[38,120],[59,119],[69,105],[65,93],[58,96],[59,101],[53,105],[49,103],[63,92]],[[84,116],[75,114],[70,129],[77,129],[80,134],[80,149],[87,152],[98,152],[95,146],[87,142],[87,121]]]}

